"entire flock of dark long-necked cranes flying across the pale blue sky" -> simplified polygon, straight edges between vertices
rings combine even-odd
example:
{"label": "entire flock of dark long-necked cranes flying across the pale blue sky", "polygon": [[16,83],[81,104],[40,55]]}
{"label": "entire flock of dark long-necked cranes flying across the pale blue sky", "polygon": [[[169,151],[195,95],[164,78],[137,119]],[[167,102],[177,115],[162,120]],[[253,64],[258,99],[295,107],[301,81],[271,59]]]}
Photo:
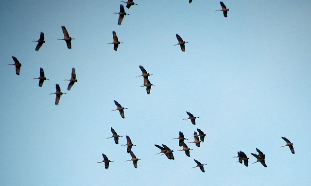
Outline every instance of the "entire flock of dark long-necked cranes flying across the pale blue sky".
{"label": "entire flock of dark long-necked cranes flying across the pale blue sky", "polygon": [[[136,3],[133,2],[133,0],[128,0],[126,2],[124,2],[122,0],[121,2],[126,3],[126,8],[127,9],[129,9],[132,5],[137,5]],[[189,3],[191,3],[191,2],[192,2],[192,0],[189,0]],[[229,9],[226,8],[225,4],[222,1],[220,1],[220,5],[222,6],[222,9],[221,10],[216,10],[216,11],[222,11],[224,16],[227,17],[227,12],[229,11]],[[123,20],[125,15],[129,15],[129,14],[125,13],[125,10],[124,10],[124,7],[123,7],[122,4],[120,4],[120,12],[119,13],[114,13],[114,14],[119,14],[118,25],[121,25],[122,20]],[[64,39],[58,39],[58,40],[66,41],[67,47],[69,49],[71,49],[71,40],[73,40],[74,38],[69,37],[69,33],[68,33],[67,29],[65,28],[65,26],[61,26],[61,28],[62,28],[62,31],[63,31],[63,34],[64,34]],[[116,34],[115,31],[112,31],[112,35],[113,35],[113,42],[112,43],[107,43],[107,44],[113,44],[114,45],[114,50],[117,51],[117,49],[119,47],[119,44],[121,44],[121,42],[119,42],[117,34]],[[178,34],[176,34],[176,38],[178,40],[178,44],[173,45],[173,46],[179,45],[181,50],[183,52],[185,52],[186,51],[185,50],[185,43],[188,43],[188,42],[183,41],[183,39]],[[35,47],[35,51],[38,51],[40,49],[40,47],[42,47],[43,43],[45,43],[45,41],[44,41],[44,33],[41,32],[39,40],[33,41],[33,42],[38,42],[37,46]],[[9,65],[15,65],[16,74],[19,75],[21,63],[17,60],[16,57],[12,56],[12,58],[13,58],[13,61],[15,63],[9,64]],[[140,70],[142,72],[142,75],[137,76],[137,77],[143,77],[143,85],[141,87],[146,87],[146,92],[148,94],[150,94],[151,86],[154,86],[154,84],[151,84],[151,82],[149,81],[148,77],[152,76],[152,74],[147,73],[145,68],[143,66],[141,66],[141,65],[139,65],[139,68],[140,68]],[[44,80],[49,80],[49,79],[47,79],[45,77],[43,68],[40,68],[40,77],[39,78],[34,78],[34,79],[39,79],[39,87],[42,87],[42,85],[44,83]],[[78,81],[76,79],[75,68],[72,68],[72,70],[71,70],[71,78],[70,79],[65,79],[65,80],[70,81],[69,85],[68,85],[68,88],[67,88],[67,90],[69,91],[72,88],[73,84]],[[58,105],[61,95],[62,94],[66,94],[66,93],[62,93],[61,92],[59,84],[56,84],[55,87],[56,87],[56,92],[55,93],[50,93],[50,94],[56,94],[55,105]],[[119,104],[116,100],[114,100],[114,103],[117,106],[117,109],[114,109],[114,110],[111,110],[111,111],[119,110],[121,117],[124,119],[125,118],[125,116],[124,116],[124,109],[127,109],[127,108],[122,107],[121,104]],[[195,123],[195,119],[197,119],[199,117],[194,117],[193,114],[191,114],[188,111],[186,111],[186,113],[188,114],[189,118],[185,118],[183,120],[190,120],[191,123],[193,125],[195,125],[196,124]],[[110,138],[107,138],[107,139],[114,138],[115,144],[119,144],[119,137],[122,137],[122,136],[119,136],[112,127],[110,129],[111,129],[111,132],[112,132],[112,136]],[[188,142],[188,143],[195,143],[195,145],[197,147],[200,147],[200,143],[204,142],[206,134],[199,128],[197,128],[197,131],[198,131],[199,134],[196,131],[194,131],[194,133],[193,133],[194,141],[193,142]],[[291,143],[290,140],[287,140],[284,137],[282,137],[282,139],[286,141],[286,145],[281,146],[281,147],[288,146],[290,148],[291,152],[294,154],[293,143]],[[137,163],[138,163],[138,160],[140,160],[140,159],[138,159],[136,157],[136,155],[132,151],[132,146],[136,146],[136,145],[134,145],[132,143],[132,141],[131,141],[129,136],[126,136],[126,140],[127,140],[127,143],[124,144],[124,145],[121,145],[121,146],[127,146],[126,152],[128,154],[130,154],[131,157],[132,157],[130,160],[126,160],[126,161],[133,161],[134,167],[138,168],[138,164]],[[190,150],[193,150],[193,149],[189,148],[187,146],[187,144],[184,142],[184,140],[188,140],[188,139],[186,139],[184,137],[184,134],[181,131],[179,131],[179,137],[178,138],[173,138],[173,140],[179,140],[178,145],[180,147],[183,147],[183,149],[180,149],[180,150],[177,150],[177,151],[184,151],[186,156],[190,157]],[[161,150],[161,152],[157,153],[156,155],[158,155],[158,154],[166,155],[166,157],[168,159],[174,160],[174,155],[173,155],[174,151],[171,150],[168,146],[166,146],[164,144],[162,144],[162,146],[155,144],[155,147],[157,147],[157,148],[159,148]],[[265,163],[265,155],[258,148],[256,148],[256,151],[258,152],[258,154],[251,153],[251,155],[253,155],[254,157],[257,158],[257,161],[254,162],[254,163],[260,162],[263,167],[267,167],[267,165]],[[108,169],[109,168],[109,162],[114,162],[114,161],[109,160],[106,155],[104,155],[104,154],[102,154],[102,155],[103,155],[104,160],[100,161],[100,162],[97,162],[97,163],[104,163],[105,169]],[[238,156],[235,156],[234,158],[239,158],[239,160],[237,162],[240,162],[241,164],[242,164],[242,162],[244,162],[244,165],[246,167],[248,167],[248,159],[249,158],[242,151],[239,151],[238,152]],[[196,159],[194,159],[194,162],[197,164],[197,166],[192,167],[192,168],[199,167],[202,172],[205,172],[203,166],[205,166],[207,164],[202,164],[201,162],[197,161]]]}

